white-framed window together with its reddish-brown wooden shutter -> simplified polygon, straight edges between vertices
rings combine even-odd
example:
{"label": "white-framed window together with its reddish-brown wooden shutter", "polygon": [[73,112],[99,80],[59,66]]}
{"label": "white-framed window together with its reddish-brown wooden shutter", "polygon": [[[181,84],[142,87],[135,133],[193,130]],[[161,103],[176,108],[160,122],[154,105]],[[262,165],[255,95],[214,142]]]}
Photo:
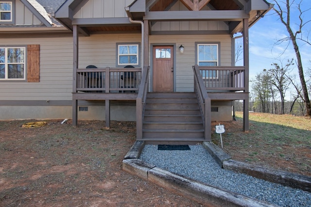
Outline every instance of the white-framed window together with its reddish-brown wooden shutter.
{"label": "white-framed window together with its reddish-brown wooden shutter", "polygon": [[0,46],[0,81],[40,82],[40,45]]}

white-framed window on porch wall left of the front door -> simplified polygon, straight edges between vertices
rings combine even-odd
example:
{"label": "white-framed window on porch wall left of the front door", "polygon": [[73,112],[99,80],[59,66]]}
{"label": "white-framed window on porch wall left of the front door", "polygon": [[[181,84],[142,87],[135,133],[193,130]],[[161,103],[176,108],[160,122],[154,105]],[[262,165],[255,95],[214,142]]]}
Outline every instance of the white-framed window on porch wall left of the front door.
{"label": "white-framed window on porch wall left of the front door", "polygon": [[138,44],[118,45],[118,65],[138,65]]}

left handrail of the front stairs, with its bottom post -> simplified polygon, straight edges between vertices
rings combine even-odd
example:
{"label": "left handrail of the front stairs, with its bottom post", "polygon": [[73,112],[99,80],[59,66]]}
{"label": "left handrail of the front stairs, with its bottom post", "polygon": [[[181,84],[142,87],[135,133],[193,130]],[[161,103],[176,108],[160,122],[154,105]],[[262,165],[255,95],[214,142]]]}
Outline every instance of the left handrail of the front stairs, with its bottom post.
{"label": "left handrail of the front stairs, with its bottom post", "polygon": [[138,96],[136,98],[136,139],[142,138],[142,120],[144,117],[147,93],[149,90],[150,66],[145,66],[142,70]]}

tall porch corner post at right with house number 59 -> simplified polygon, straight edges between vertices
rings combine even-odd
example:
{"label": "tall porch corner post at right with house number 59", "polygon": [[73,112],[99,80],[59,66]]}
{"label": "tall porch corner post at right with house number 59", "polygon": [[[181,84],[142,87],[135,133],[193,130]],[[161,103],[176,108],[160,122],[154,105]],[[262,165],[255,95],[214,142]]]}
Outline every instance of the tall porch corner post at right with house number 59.
{"label": "tall porch corner post at right with house number 59", "polygon": [[243,131],[248,132],[249,130],[249,37],[248,37],[248,19],[243,19],[243,51],[244,51],[244,92],[247,96],[243,100]]}

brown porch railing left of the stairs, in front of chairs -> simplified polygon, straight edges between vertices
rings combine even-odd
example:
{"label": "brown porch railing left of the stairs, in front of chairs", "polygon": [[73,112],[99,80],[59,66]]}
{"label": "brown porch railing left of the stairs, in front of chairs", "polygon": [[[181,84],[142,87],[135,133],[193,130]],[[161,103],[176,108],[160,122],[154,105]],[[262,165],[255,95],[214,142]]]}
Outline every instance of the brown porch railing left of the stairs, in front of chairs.
{"label": "brown porch railing left of the stairs, in front of chairs", "polygon": [[138,92],[141,68],[77,69],[76,91]]}

